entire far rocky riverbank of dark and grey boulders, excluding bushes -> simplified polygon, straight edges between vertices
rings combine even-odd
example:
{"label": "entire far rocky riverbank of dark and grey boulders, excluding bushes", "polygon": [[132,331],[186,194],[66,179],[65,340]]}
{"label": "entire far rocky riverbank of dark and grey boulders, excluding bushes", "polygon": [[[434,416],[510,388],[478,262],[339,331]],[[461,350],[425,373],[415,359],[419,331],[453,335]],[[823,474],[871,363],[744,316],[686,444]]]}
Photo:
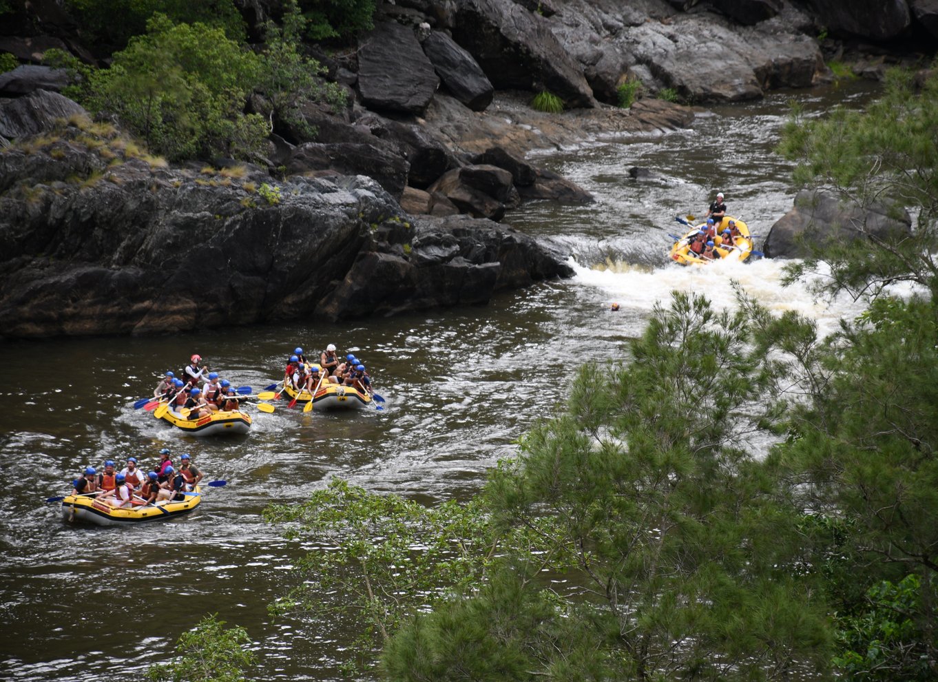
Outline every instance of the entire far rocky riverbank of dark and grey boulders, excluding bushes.
{"label": "entire far rocky riverbank of dark and grey boulders, excluding bushes", "polygon": [[[169,167],[119,130],[91,125],[57,94],[64,72],[28,64],[49,47],[102,57],[56,3],[33,3],[7,23],[15,35],[0,36],[0,51],[27,62],[0,75],[0,143],[12,143],[0,154],[0,335],[338,320],[482,303],[569,276],[564,253],[497,222],[523,201],[592,200],[527,152],[688,127],[693,111],[671,100],[807,87],[829,78],[825,53],[858,41],[885,46],[885,64],[889,41],[933,40],[929,7],[381,3],[373,30],[349,49],[309,46],[346,88],[345,109],[310,106],[299,125],[273,121],[265,154],[250,163]],[[276,9],[251,8],[255,24]],[[871,64],[864,73],[875,76]],[[622,109],[624,86],[636,99]],[[542,91],[564,111],[532,109]]]}

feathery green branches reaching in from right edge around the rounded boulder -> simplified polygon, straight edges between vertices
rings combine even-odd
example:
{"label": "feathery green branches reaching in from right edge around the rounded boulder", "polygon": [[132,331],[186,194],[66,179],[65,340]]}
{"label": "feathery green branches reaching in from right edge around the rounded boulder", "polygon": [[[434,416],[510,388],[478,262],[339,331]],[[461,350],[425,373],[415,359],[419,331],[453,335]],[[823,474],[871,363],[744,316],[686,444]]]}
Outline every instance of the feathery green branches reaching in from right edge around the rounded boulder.
{"label": "feathery green branches reaching in from right edge around the rounded boulder", "polygon": [[794,110],[779,151],[797,161],[798,185],[834,192],[862,208],[885,205],[897,217],[907,208],[915,229],[911,235],[880,238],[862,222],[845,224],[845,231],[866,237],[873,248],[857,250],[846,240],[821,245],[804,263],[790,266],[790,280],[824,261],[831,266],[825,285],[830,292],[859,296],[895,281],[929,287],[938,282],[932,255],[938,252],[938,71],[922,83],[917,78],[891,70],[884,96],[866,111],[839,107],[809,120]]}

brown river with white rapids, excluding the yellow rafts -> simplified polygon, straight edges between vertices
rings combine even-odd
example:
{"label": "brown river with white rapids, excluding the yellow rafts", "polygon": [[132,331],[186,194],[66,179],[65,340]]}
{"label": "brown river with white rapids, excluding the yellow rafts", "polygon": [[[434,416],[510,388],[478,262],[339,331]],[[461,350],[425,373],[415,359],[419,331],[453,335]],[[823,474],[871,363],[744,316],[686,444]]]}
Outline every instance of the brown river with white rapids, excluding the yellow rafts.
{"label": "brown river with white rapids, excluding the yellow rafts", "polygon": [[[729,214],[766,235],[794,197],[791,167],[772,152],[788,100],[819,114],[836,102],[861,106],[873,92],[853,83],[778,93],[702,111],[688,130],[538,153],[537,163],[594,192],[597,203],[525,205],[507,221],[565,243],[577,275],[487,306],[348,325],[0,345],[0,678],[131,678],[167,660],[204,614],[218,613],[255,643],[252,679],[340,679],[337,652],[348,632],[266,614],[302,547],[265,525],[265,505],[301,500],[336,476],[428,504],[471,495],[522,433],[555,413],[574,368],[621,358],[674,289],[732,306],[735,280],[770,309],[803,312],[828,330],[855,315],[860,307],[849,300],[827,305],[783,289],[779,262],[682,268],[664,253],[668,235],[681,231],[673,216],[703,215],[717,190]],[[652,177],[629,178],[632,166]],[[280,401],[273,414],[255,414],[249,436],[200,440],[132,409],[192,353],[236,386],[260,390],[296,345],[329,342],[364,360],[385,410],[304,414]],[[130,528],[69,524],[45,503],[88,464],[133,455],[149,468],[160,447],[175,459],[191,453],[206,479],[228,485],[209,489],[189,517]]]}

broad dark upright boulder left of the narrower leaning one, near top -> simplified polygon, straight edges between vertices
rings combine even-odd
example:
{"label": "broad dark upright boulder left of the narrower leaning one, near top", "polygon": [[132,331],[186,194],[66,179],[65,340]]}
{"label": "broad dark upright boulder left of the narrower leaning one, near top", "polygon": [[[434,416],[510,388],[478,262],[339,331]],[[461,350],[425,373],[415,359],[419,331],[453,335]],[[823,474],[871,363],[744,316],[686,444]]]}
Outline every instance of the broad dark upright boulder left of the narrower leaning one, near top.
{"label": "broad dark upright boulder left of the narrower leaning one, near top", "polygon": [[396,22],[376,23],[358,51],[358,94],[379,112],[422,114],[440,79],[414,31]]}

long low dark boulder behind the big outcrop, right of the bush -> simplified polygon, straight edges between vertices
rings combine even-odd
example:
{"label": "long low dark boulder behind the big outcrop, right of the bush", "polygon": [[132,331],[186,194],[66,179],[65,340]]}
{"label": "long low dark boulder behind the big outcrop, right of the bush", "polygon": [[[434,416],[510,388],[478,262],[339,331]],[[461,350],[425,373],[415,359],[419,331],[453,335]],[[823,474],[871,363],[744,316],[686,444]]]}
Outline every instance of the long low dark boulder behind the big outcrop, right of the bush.
{"label": "long low dark boulder behind the big outcrop, right of the bush", "polygon": [[399,199],[407,184],[410,163],[374,144],[300,144],[287,164],[290,174],[331,171],[340,175],[368,175]]}

